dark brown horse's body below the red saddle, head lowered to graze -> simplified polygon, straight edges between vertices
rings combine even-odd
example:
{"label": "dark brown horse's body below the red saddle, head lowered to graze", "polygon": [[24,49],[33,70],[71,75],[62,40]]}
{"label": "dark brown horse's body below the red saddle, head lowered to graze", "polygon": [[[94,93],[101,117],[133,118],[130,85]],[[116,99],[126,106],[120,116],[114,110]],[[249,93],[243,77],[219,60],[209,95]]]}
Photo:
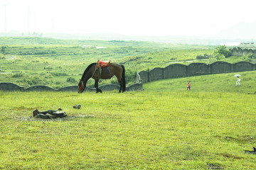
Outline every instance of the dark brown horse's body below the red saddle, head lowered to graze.
{"label": "dark brown horse's body below the red saddle, head lowered to graze", "polygon": [[125,69],[123,65],[119,65],[116,63],[110,63],[108,67],[102,67],[100,69],[97,68],[97,63],[90,64],[85,72],[82,74],[82,78],[78,84],[78,93],[82,93],[85,90],[87,81],[92,78],[95,79],[95,88],[96,93],[102,93],[102,90],[99,89],[99,80],[100,79],[110,79],[111,77],[116,76],[117,80],[120,84],[119,92],[124,92],[126,89],[125,82]]}

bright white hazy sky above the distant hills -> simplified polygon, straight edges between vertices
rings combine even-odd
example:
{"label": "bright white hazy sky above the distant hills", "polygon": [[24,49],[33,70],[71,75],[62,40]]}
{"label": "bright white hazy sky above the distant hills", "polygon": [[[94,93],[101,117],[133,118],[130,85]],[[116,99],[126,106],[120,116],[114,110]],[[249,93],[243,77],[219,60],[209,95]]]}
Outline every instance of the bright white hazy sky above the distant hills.
{"label": "bright white hazy sky above the distant hills", "polygon": [[255,5],[255,0],[0,0],[0,33],[212,36],[236,23],[256,22]]}

